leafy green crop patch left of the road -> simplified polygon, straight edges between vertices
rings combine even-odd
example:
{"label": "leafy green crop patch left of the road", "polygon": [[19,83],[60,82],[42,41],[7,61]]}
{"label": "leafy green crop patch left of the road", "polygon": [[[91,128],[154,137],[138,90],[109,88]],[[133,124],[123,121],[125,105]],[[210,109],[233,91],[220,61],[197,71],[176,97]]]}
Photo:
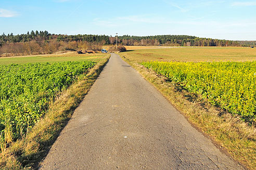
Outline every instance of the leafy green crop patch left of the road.
{"label": "leafy green crop patch left of the road", "polygon": [[92,61],[68,61],[0,66],[1,133],[11,124],[13,138],[21,137],[27,126],[46,113],[59,91],[94,65]]}

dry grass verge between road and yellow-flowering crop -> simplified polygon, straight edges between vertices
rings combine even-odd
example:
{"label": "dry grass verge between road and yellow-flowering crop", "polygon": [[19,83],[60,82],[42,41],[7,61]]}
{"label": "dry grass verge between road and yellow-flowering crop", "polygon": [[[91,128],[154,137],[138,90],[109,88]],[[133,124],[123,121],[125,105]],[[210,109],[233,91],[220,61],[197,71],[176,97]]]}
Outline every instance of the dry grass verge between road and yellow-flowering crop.
{"label": "dry grass verge between road and yellow-flowering crop", "polygon": [[256,128],[249,126],[224,110],[211,106],[207,100],[189,93],[166,77],[157,75],[134,60],[119,54],[145,79],[155,86],[187,120],[234,160],[248,169],[256,169]]}

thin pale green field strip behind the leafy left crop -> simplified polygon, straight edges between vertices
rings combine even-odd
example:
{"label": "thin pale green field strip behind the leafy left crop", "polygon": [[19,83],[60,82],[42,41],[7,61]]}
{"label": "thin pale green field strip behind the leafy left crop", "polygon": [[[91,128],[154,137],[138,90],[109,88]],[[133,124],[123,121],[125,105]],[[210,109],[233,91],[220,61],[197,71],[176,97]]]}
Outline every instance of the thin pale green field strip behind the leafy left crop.
{"label": "thin pale green field strip behind the leafy left crop", "polygon": [[59,55],[37,55],[21,57],[0,57],[0,65],[11,63],[35,63],[35,62],[62,62],[62,61],[99,61],[109,54],[59,54]]}

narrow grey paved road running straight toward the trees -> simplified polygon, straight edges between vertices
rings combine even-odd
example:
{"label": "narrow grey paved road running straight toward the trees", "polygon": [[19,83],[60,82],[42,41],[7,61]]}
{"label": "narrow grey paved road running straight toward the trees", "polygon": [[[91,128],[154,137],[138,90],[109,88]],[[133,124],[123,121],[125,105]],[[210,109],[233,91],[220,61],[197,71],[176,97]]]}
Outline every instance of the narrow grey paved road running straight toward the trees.
{"label": "narrow grey paved road running straight toward the trees", "polygon": [[117,54],[41,169],[241,169]]}

